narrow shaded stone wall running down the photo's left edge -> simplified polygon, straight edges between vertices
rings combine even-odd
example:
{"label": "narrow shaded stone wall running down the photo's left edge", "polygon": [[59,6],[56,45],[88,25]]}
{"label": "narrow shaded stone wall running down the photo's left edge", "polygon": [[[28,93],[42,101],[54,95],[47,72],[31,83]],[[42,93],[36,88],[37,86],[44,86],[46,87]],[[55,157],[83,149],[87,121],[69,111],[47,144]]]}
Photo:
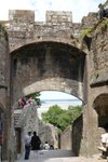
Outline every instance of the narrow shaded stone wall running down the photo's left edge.
{"label": "narrow shaded stone wall running down the photo's left edge", "polygon": [[[5,28],[0,25],[0,120],[3,123],[2,130],[2,160],[8,153],[8,131],[10,123],[10,56],[9,42]],[[0,141],[1,143],[1,141]]]}

